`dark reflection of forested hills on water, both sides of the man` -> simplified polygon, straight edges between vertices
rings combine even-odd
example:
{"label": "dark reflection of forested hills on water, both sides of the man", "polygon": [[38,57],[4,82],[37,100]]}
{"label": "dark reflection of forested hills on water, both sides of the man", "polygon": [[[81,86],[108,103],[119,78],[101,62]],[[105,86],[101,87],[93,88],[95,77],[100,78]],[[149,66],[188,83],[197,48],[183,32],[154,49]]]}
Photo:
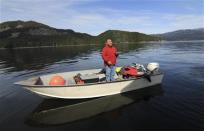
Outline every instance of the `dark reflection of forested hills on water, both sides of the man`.
{"label": "dark reflection of forested hills on water, both sides of the man", "polygon": [[[118,44],[120,54],[144,49],[145,44]],[[5,73],[23,70],[39,70],[54,64],[72,64],[77,58],[87,60],[94,51],[100,53],[103,45],[65,46],[50,48],[26,48],[0,50],[0,70]]]}

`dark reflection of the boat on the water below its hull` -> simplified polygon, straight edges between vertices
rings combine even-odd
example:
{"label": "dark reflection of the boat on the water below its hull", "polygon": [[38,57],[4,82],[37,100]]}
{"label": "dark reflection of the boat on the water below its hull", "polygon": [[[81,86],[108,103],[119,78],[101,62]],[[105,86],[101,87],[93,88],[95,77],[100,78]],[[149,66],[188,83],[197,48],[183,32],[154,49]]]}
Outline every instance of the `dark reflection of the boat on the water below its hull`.
{"label": "dark reflection of the boat on the water below its hull", "polygon": [[65,124],[112,111],[131,103],[148,101],[152,97],[162,94],[161,85],[157,85],[92,100],[48,99],[44,100],[30,114],[26,123],[32,126]]}

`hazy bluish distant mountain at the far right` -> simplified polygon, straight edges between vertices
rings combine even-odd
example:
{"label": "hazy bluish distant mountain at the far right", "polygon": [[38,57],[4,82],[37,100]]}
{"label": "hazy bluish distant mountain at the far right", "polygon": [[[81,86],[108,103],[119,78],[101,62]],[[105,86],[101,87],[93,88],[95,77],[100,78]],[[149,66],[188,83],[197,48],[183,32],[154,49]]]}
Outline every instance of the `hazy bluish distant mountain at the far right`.
{"label": "hazy bluish distant mountain at the far right", "polygon": [[181,41],[181,40],[204,40],[204,28],[177,30],[163,34],[156,34],[164,40]]}

